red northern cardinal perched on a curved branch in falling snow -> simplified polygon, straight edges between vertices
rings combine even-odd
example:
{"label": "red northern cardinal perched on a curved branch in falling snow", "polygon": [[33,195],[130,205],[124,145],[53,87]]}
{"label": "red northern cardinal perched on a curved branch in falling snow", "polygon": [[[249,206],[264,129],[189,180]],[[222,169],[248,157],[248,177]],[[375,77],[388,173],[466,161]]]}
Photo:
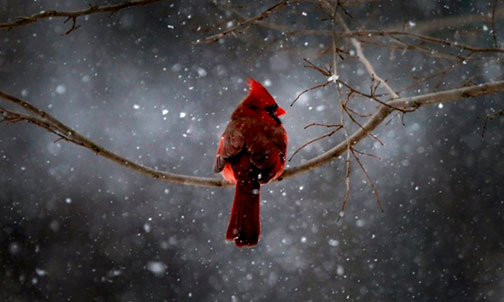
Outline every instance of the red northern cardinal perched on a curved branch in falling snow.
{"label": "red northern cardinal perched on a curved branch in falling snow", "polygon": [[226,240],[238,247],[259,241],[261,184],[283,173],[287,153],[287,133],[278,118],[285,110],[259,82],[250,78],[247,84],[249,94],[221,136],[214,168],[236,184]]}

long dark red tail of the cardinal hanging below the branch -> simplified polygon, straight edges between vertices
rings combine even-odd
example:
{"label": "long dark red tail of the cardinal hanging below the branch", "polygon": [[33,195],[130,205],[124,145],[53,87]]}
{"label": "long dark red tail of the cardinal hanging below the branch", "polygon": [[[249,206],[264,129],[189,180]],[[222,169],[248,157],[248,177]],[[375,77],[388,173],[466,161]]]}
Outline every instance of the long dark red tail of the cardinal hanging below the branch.
{"label": "long dark red tail of the cardinal hanging below the branch", "polygon": [[226,240],[234,241],[238,247],[254,246],[259,241],[259,190],[260,184],[257,181],[239,180],[236,183]]}

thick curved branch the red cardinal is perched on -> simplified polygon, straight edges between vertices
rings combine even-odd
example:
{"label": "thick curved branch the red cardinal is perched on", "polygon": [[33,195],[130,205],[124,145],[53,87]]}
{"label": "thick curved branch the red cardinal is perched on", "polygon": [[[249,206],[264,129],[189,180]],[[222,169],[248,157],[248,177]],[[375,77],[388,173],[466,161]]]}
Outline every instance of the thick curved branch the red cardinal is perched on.
{"label": "thick curved branch the red cardinal is perched on", "polygon": [[[457,89],[452,89],[452,90],[446,90],[446,91],[441,91],[441,92],[436,92],[436,93],[430,93],[430,94],[425,94],[425,95],[419,95],[419,96],[413,96],[413,97],[406,97],[406,98],[400,98],[400,99],[395,99],[392,101],[387,102],[389,106],[380,106],[377,110],[377,112],[363,125],[362,129],[357,130],[354,132],[350,137],[348,138],[348,141],[352,146],[356,145],[359,143],[361,140],[363,140],[365,137],[368,136],[368,133],[370,131],[373,131],[376,127],[378,127],[384,120],[385,118],[394,111],[393,107],[396,108],[403,108],[403,109],[411,109],[411,108],[418,108],[423,105],[429,105],[429,104],[436,104],[436,103],[443,103],[443,102],[451,102],[451,101],[456,101],[459,99],[464,99],[464,98],[470,98],[470,97],[475,97],[479,95],[485,95],[485,94],[492,94],[492,93],[498,93],[498,92],[504,92],[504,81],[500,82],[493,82],[493,83],[484,83],[480,85],[474,85],[474,86],[469,86],[469,87],[463,87],[463,88],[457,88]],[[140,164],[137,164],[133,161],[130,161],[128,159],[125,159],[124,157],[121,157],[101,146],[98,144],[92,142],[91,140],[86,139],[83,137],[81,134],[77,133],[75,130],[71,129],[70,127],[64,125],[63,123],[59,122],[56,120],[54,117],[49,115],[48,113],[38,109],[37,107],[20,100],[12,95],[9,95],[5,92],[0,91],[0,98],[9,101],[17,106],[20,106],[24,108],[25,110],[35,114],[37,118],[33,118],[34,120],[41,121],[43,122],[44,125],[48,125],[48,127],[43,127],[48,131],[51,131],[53,133],[57,133],[57,135],[61,136],[63,139],[78,144],[84,148],[90,149],[93,152],[95,152],[97,155],[100,155],[102,157],[105,157],[107,159],[110,159],[120,166],[129,168],[131,170],[134,170],[136,172],[145,174],[147,176],[167,181],[167,182],[173,182],[173,183],[178,183],[178,184],[185,184],[185,185],[196,185],[196,186],[210,186],[210,187],[221,187],[221,186],[228,186],[230,185],[226,181],[222,179],[217,179],[217,178],[207,178],[207,177],[196,177],[196,176],[190,176],[190,175],[181,175],[181,174],[173,174],[173,173],[167,173],[163,171],[159,171],[156,169],[148,168],[145,166],[142,166]],[[8,113],[10,117],[13,117],[12,111],[9,111]],[[7,117],[7,114],[2,112],[2,116],[4,118]],[[22,118],[23,115],[18,116],[20,120],[29,120],[27,118]],[[41,126],[40,123],[34,123],[38,126]],[[325,165],[329,163],[330,161],[334,160],[343,152],[347,150],[348,146],[346,141],[341,142],[339,145],[336,147],[330,149],[329,151],[312,158],[305,163],[292,167],[289,169],[286,169],[284,174],[279,178],[281,179],[286,179],[290,178],[293,176],[296,176],[301,173],[306,173],[310,170],[313,170],[317,167],[320,167],[322,165]]]}

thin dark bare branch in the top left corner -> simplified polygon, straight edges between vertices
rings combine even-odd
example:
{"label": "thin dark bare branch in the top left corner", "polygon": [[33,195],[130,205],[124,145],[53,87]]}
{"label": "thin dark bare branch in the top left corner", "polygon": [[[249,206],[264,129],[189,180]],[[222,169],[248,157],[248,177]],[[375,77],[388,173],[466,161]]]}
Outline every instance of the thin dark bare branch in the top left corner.
{"label": "thin dark bare branch in the top left corner", "polygon": [[29,17],[18,17],[17,21],[14,22],[6,22],[6,23],[0,23],[0,29],[6,29],[10,30],[15,27],[20,27],[24,25],[28,25],[31,23],[35,23],[39,20],[42,19],[48,19],[52,17],[61,17],[61,18],[67,18],[65,22],[68,22],[72,20],[72,27],[65,33],[69,34],[70,32],[74,31],[77,29],[79,26],[75,24],[76,19],[78,17],[82,16],[87,16],[87,15],[92,15],[96,13],[105,13],[105,12],[112,12],[115,13],[119,10],[132,7],[132,6],[143,6],[155,2],[160,2],[163,0],[136,0],[136,1],[126,1],[123,3],[119,4],[113,4],[113,5],[104,5],[104,6],[90,6],[88,9],[83,9],[79,11],[56,11],[56,10],[48,10],[48,11],[42,11],[38,14],[31,15]]}

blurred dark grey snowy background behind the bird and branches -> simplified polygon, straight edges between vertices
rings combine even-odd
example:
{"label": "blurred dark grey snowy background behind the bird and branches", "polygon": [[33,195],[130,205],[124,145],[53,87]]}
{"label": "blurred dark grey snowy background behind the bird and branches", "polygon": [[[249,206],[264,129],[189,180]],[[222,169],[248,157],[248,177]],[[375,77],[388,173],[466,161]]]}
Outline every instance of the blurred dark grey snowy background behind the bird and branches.
{"label": "blurred dark grey snowy background behind the bird and branches", "polygon": [[[120,1],[3,1],[0,22],[114,3]],[[62,18],[3,30],[0,89],[136,162],[219,177],[217,142],[247,94],[248,77],[286,109],[289,154],[328,131],[305,125],[340,121],[334,85],[289,106],[327,80],[303,67],[303,58],[328,66],[330,35],[254,25],[215,43],[193,43],[275,3],[161,1],[80,17],[80,28],[68,35],[71,21]],[[504,47],[502,1],[341,3],[353,30],[397,29]],[[309,1],[262,21],[291,30],[332,24]],[[377,73],[402,96],[504,79],[502,54],[401,39],[416,46],[362,37]],[[351,44],[337,43],[344,51],[341,79],[369,92],[370,76]],[[264,186],[262,236],[252,249],[224,240],[233,188],[151,179],[41,128],[3,122],[0,300],[504,301],[504,119],[489,120],[482,137],[485,117],[502,112],[503,98],[433,105],[403,121],[396,114],[374,132],[383,146],[361,142],[358,150],[381,158],[361,161],[384,213],[352,161],[351,193],[337,221],[344,158]],[[349,104],[360,113],[377,105],[362,98]],[[289,165],[343,139],[337,133],[311,144]]]}

